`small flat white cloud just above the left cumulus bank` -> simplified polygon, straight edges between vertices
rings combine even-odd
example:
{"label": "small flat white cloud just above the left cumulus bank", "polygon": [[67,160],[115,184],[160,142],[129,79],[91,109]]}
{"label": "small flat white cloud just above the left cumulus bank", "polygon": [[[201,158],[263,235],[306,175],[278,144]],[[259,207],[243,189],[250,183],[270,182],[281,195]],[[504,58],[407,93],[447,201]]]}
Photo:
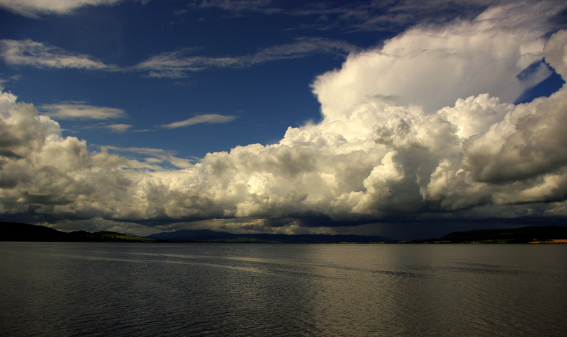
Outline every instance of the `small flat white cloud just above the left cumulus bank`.
{"label": "small flat white cloud just above the left cumulus bank", "polygon": [[[44,104],[40,106],[40,110],[43,111],[43,115],[56,120],[107,120],[126,117],[122,109],[86,105],[82,102]],[[116,127],[116,129],[119,128],[120,126]]]}

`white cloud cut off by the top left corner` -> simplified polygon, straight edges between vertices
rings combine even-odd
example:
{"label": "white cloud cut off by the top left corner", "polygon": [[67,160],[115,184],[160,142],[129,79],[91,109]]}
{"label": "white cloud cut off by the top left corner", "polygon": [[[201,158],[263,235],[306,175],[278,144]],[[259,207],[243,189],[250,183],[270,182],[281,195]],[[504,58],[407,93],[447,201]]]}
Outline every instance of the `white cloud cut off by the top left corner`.
{"label": "white cloud cut off by the top left corner", "polygon": [[38,18],[41,14],[69,14],[84,6],[114,5],[122,0],[0,0],[0,7],[14,13]]}

